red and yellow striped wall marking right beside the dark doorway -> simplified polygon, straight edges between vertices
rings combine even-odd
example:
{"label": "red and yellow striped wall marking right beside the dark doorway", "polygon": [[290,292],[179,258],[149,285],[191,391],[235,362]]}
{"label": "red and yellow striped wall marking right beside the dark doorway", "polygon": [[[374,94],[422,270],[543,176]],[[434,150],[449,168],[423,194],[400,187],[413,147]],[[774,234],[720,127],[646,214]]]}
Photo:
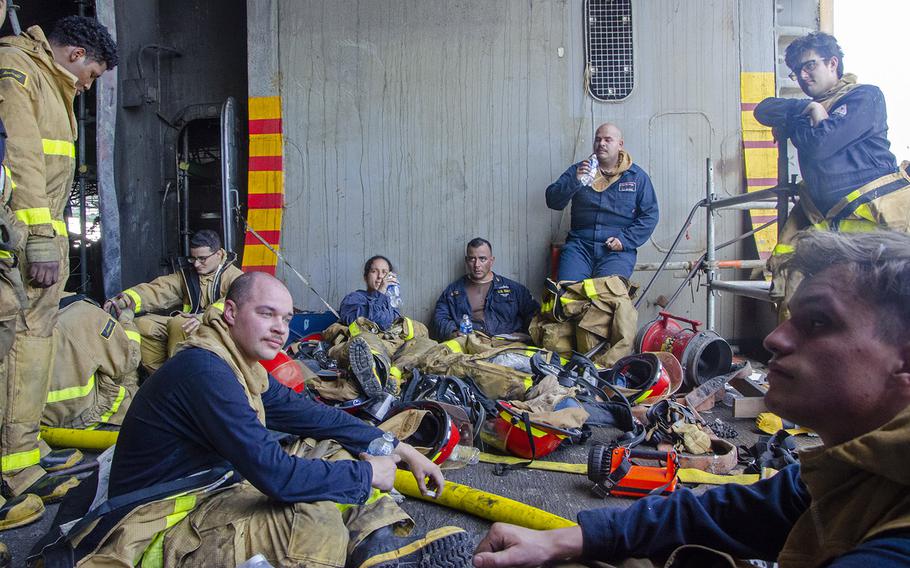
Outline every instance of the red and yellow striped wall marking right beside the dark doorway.
{"label": "red and yellow striped wall marking right beside the dark doorway", "polygon": [[[278,250],[284,205],[281,97],[250,97],[249,109],[247,223]],[[277,265],[275,253],[248,231],[244,239],[243,270],[258,270],[274,275]]]}

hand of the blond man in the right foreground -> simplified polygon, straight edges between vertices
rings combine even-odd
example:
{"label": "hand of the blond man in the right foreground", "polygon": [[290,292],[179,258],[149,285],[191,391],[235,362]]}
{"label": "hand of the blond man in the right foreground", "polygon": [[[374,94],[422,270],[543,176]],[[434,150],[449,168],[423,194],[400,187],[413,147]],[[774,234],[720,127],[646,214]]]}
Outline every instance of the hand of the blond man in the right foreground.
{"label": "hand of the blond man in the right foreground", "polygon": [[494,523],[474,551],[477,568],[542,566],[581,556],[581,527],[535,531]]}

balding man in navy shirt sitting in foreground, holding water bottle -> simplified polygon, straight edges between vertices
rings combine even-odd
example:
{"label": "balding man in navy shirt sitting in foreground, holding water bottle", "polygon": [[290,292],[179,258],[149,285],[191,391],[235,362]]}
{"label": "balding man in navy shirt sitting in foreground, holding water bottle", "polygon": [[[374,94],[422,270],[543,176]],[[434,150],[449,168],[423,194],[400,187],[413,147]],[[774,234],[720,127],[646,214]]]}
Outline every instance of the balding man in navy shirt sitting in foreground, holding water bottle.
{"label": "balding man in navy shirt sitting in foreground, holding water bottle", "polygon": [[[470,563],[473,543],[462,529],[403,536],[414,522],[385,493],[399,462],[425,494],[441,492],[439,466],[397,440],[391,455],[366,454],[382,430],[295,393],[259,364],[281,349],[292,315],[281,282],[262,272],[240,276],[224,310],[210,308],[142,385],[108,487],[110,499],[135,506],[72,529],[74,546],[98,538],[76,549],[77,563],[91,564],[95,554],[108,564],[236,566],[257,553],[273,566]],[[299,438],[283,446],[275,432]],[[229,470],[245,481],[229,479]],[[177,483],[190,485],[167,489]],[[149,499],[158,492],[160,500]],[[80,488],[65,510],[82,515],[77,500],[87,497],[87,507],[94,493]]]}

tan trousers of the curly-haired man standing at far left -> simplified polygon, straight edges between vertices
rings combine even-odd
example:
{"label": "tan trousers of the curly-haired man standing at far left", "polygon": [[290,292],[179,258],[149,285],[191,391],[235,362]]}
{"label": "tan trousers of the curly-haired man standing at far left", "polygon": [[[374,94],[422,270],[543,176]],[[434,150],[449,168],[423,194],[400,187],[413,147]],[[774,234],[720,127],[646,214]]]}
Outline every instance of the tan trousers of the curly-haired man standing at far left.
{"label": "tan trousers of the curly-haired man standing at far left", "polygon": [[[3,378],[6,407],[0,428],[0,469],[14,495],[45,474],[38,464],[38,434],[56,350],[54,334],[60,295],[69,276],[69,242],[58,236],[56,244],[63,259],[59,280],[49,288],[25,286],[29,307],[16,320],[16,339]],[[20,264],[23,282],[27,281],[27,268],[27,263]]]}

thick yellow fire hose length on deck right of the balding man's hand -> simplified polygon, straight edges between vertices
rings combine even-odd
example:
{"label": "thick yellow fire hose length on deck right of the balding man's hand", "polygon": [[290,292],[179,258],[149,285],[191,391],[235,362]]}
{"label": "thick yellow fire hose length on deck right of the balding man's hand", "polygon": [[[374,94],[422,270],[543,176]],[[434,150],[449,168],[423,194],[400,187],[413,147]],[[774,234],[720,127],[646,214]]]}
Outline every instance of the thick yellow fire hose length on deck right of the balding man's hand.
{"label": "thick yellow fire hose length on deck right of the balding man's hand", "polygon": [[414,497],[429,503],[437,503],[490,521],[502,521],[536,530],[562,529],[575,526],[575,523],[569,519],[548,513],[537,507],[452,481],[446,481],[445,491],[438,498],[433,499],[420,493],[420,489],[417,488],[417,481],[414,480],[414,475],[411,472],[400,469],[395,472],[395,489],[408,497]]}

